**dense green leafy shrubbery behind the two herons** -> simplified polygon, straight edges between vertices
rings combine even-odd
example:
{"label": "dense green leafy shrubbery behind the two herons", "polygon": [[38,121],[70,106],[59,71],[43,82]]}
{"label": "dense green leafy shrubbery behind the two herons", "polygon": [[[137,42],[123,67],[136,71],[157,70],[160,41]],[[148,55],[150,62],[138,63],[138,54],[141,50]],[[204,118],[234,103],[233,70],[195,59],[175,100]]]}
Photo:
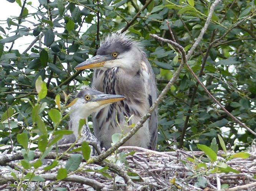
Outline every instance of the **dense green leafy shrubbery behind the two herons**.
{"label": "dense green leafy shrubbery behind the two herons", "polygon": [[[144,45],[161,91],[180,59],[171,47],[149,34],[171,39],[168,21],[176,41],[187,51],[198,37],[211,4],[206,0],[39,0],[37,7],[34,1],[7,1],[10,6],[18,3],[21,13],[17,18],[1,21],[0,25],[0,144],[10,145],[11,134],[15,146],[20,146],[17,134],[31,132],[31,138],[38,134],[38,131],[27,130],[33,126],[39,76],[47,87],[47,96],[40,100],[39,115],[49,134],[54,126],[48,112],[56,107],[55,96],[61,94],[63,104],[63,92],[72,94],[80,84],[91,83],[92,72],[81,73],[75,71],[74,66],[95,55],[99,40],[106,34],[127,28],[128,33]],[[147,8],[142,10],[145,3]],[[254,131],[255,4],[255,0],[221,1],[188,62],[211,94]],[[35,11],[28,11],[31,6]],[[139,10],[141,14],[132,22]],[[34,37],[35,43],[30,47],[31,42],[24,42],[29,43],[25,51],[13,49],[15,40],[26,36]],[[191,146],[196,150],[197,143],[209,146],[217,134],[223,136],[228,149],[235,143],[236,150],[248,147],[255,137],[240,128],[197,86],[185,67],[159,106],[158,149],[169,151],[172,146],[184,149]],[[67,123],[68,118],[62,120],[58,128],[67,128]],[[180,144],[184,127],[185,139]]]}

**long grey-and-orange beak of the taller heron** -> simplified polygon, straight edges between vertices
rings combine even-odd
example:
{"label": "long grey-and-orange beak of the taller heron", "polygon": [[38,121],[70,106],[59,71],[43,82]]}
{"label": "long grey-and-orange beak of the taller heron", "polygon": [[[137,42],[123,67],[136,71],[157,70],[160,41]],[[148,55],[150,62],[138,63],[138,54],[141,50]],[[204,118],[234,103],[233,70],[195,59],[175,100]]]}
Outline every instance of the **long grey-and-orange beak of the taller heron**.
{"label": "long grey-and-orange beak of the taller heron", "polygon": [[104,63],[107,60],[113,60],[113,58],[110,55],[96,55],[95,57],[92,57],[91,59],[87,59],[86,61],[77,65],[75,69],[84,70],[84,69],[103,67]]}

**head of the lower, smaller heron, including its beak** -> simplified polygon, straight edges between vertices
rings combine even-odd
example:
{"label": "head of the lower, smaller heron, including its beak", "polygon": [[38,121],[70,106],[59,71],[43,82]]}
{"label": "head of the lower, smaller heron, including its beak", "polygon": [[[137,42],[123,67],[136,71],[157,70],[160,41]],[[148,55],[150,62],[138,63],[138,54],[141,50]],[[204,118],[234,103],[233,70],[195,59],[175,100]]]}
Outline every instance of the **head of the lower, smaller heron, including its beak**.
{"label": "head of the lower, smaller heron, including its beak", "polygon": [[86,118],[114,102],[125,99],[122,95],[103,94],[91,87],[85,87],[76,95],[77,101],[71,106],[71,117]]}

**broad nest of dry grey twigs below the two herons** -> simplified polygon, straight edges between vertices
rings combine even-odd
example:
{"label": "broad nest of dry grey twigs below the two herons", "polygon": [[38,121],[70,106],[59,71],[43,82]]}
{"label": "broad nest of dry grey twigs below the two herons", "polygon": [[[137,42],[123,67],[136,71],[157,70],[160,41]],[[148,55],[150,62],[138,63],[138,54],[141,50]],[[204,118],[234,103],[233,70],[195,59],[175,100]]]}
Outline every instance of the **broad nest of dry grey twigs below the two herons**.
{"label": "broad nest of dry grey twigs below the two herons", "polygon": [[[218,152],[218,161],[223,161],[226,165],[230,166],[239,173],[211,173],[211,168],[214,168],[210,162],[205,162],[205,168],[197,168],[198,163],[191,162],[191,159],[197,159],[198,162],[205,160],[203,152],[186,152],[178,150],[175,152],[157,152],[140,147],[120,147],[119,154],[110,156],[109,161],[113,162],[116,159],[116,164],[123,170],[129,172],[128,175],[132,179],[131,190],[188,190],[188,191],[212,191],[217,190],[220,186],[224,186],[225,190],[256,190],[256,152],[249,152],[250,157],[247,159],[234,158],[226,161],[223,157],[224,152]],[[132,155],[127,155],[124,160],[121,160],[121,154],[128,154],[130,151],[135,151]],[[231,154],[231,152],[228,152]],[[65,165],[65,161],[61,162]],[[80,164],[80,166],[83,163]],[[41,168],[41,169],[40,169]],[[40,167],[37,173],[42,172],[43,167]],[[60,168],[60,166],[58,166]],[[43,175],[43,177],[53,176],[58,168],[51,169],[51,172]],[[66,181],[59,181],[50,187],[64,187],[68,190],[95,190],[97,187],[93,185],[93,181],[97,181],[104,185],[101,190],[126,190],[126,183],[121,176],[116,175],[111,170],[106,170],[106,173],[96,172],[95,170],[102,168],[99,165],[91,164],[85,167],[84,172],[72,175]],[[88,170],[91,169],[91,170]],[[208,170],[207,170],[208,169]],[[2,177],[8,176],[10,170],[4,171],[2,169]],[[109,177],[112,176],[112,178]],[[79,178],[81,180],[79,180]],[[82,180],[92,180],[84,184]],[[48,178],[48,179],[51,179]],[[46,178],[47,180],[47,178]],[[53,178],[54,180],[54,178]],[[47,180],[45,185],[51,183]],[[5,186],[5,185],[3,185]],[[3,186],[0,188],[3,190]],[[8,190],[8,188],[6,186]],[[51,189],[50,188],[50,189]],[[30,188],[31,190],[35,188]],[[46,189],[47,190],[47,189]]]}

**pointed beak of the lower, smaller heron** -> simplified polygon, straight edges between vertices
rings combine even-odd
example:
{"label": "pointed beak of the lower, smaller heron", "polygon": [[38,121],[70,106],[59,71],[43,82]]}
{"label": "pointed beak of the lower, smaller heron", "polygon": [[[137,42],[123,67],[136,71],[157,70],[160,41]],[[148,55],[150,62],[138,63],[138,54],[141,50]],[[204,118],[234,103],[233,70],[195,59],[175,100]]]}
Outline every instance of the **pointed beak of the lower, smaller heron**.
{"label": "pointed beak of the lower, smaller heron", "polygon": [[110,95],[110,94],[97,94],[92,101],[97,102],[99,105],[112,104],[126,99],[122,95]]}

